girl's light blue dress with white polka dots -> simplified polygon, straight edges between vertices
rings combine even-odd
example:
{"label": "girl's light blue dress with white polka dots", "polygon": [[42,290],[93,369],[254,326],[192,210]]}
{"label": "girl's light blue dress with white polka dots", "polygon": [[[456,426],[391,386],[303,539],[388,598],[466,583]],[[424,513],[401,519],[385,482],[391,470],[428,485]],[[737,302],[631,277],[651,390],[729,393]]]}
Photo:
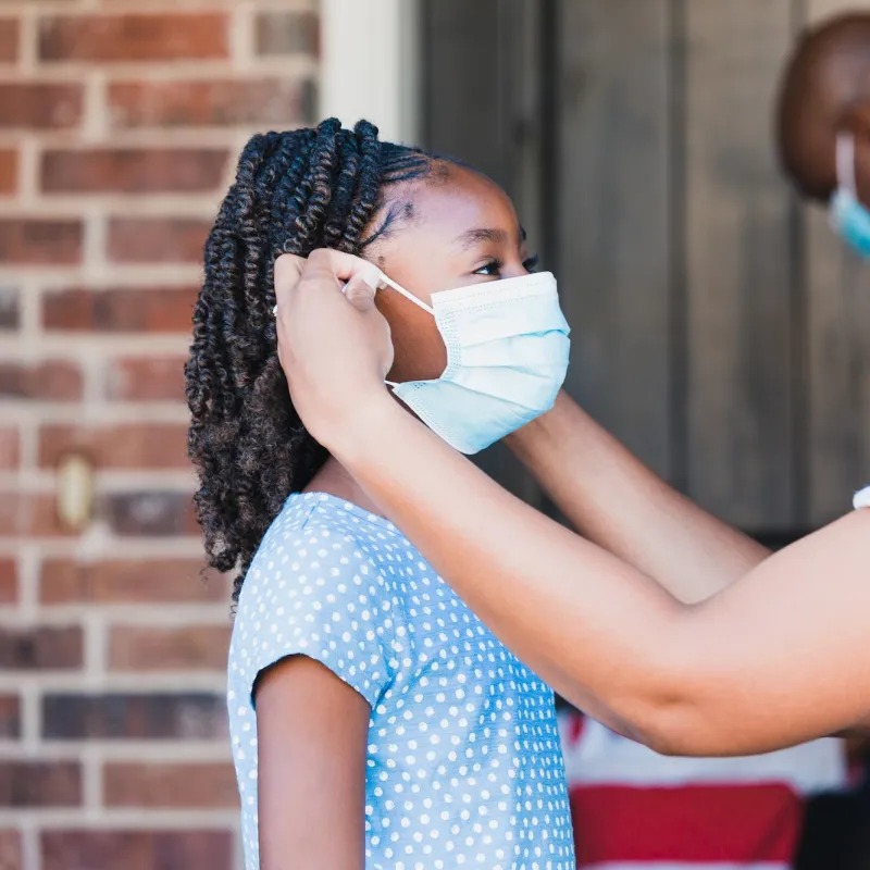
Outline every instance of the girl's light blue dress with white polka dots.
{"label": "girl's light blue dress with white polka dots", "polygon": [[368,870],[574,870],[552,692],[380,517],[290,496],[243,586],[228,707],[246,870],[259,869],[258,673],[302,654],[372,708]]}

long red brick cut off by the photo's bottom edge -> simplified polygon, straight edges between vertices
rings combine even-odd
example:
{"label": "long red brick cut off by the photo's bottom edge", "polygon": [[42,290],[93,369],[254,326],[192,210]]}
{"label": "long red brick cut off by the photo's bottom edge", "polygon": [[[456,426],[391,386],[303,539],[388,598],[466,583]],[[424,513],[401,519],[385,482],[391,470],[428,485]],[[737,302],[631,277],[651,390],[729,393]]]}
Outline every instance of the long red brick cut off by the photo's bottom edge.
{"label": "long red brick cut off by the photo's bottom edge", "polygon": [[42,870],[231,870],[229,831],[55,831],[41,834]]}

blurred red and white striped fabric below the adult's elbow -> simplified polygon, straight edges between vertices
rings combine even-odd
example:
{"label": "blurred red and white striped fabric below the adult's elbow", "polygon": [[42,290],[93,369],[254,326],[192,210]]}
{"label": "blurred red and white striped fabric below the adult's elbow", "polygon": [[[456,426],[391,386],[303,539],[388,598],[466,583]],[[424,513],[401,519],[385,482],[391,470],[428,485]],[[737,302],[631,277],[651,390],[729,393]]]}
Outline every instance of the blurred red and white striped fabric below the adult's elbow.
{"label": "blurred red and white striped fabric below the adult's elbow", "polygon": [[579,868],[787,870],[807,795],[847,785],[825,739],[754,758],[666,758],[560,713]]}

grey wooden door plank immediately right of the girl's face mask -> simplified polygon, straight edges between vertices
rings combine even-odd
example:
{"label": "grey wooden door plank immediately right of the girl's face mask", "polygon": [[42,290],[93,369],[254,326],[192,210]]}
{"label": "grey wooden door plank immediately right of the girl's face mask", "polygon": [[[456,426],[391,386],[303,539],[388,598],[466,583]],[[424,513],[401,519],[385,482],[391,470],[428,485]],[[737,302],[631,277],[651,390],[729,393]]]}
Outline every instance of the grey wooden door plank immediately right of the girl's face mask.
{"label": "grey wooden door plank immediately right of the girl's face mask", "polygon": [[667,0],[561,0],[558,277],[569,389],[670,476]]}

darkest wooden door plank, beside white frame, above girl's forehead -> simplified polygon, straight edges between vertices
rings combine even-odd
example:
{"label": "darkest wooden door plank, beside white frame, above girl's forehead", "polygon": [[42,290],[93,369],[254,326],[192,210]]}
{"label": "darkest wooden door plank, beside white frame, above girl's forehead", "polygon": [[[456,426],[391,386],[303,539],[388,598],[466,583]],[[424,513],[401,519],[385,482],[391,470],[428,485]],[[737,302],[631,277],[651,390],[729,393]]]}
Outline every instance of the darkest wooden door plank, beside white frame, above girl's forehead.
{"label": "darkest wooden door plank, beside white frame, above girl's forehead", "polygon": [[[540,243],[539,4],[537,0],[425,0],[427,148],[500,184]],[[476,464],[514,495],[544,506],[540,487],[495,445]]]}

